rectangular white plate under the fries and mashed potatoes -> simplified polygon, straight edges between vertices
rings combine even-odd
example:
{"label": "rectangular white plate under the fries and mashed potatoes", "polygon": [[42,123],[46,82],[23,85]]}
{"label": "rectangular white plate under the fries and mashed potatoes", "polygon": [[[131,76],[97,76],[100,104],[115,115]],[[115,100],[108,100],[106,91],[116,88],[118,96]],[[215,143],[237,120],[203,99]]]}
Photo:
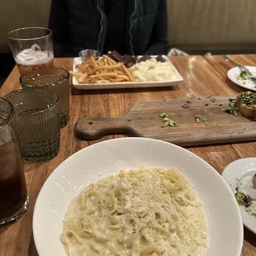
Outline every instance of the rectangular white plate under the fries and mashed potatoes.
{"label": "rectangular white plate under the fries and mashed potatoes", "polygon": [[[183,77],[178,70],[173,66],[172,62],[168,59],[166,55],[162,55],[166,62],[169,62],[172,66],[172,69],[176,73],[176,79],[168,82],[129,82],[129,83],[78,83],[78,80],[73,76],[72,83],[74,88],[83,89],[83,90],[92,90],[92,89],[114,89],[114,88],[154,88],[154,87],[169,87],[177,85],[178,83],[183,82]],[[138,56],[139,58],[141,56]],[[151,56],[153,58],[157,57]],[[76,71],[76,65],[81,64],[82,59],[80,57],[73,59],[73,71]]]}

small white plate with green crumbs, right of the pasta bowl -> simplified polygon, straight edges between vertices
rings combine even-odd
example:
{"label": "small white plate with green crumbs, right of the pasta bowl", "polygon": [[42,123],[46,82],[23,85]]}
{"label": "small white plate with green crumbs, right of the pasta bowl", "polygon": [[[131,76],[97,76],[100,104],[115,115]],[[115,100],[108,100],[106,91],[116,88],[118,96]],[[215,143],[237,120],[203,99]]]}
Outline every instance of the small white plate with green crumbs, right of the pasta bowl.
{"label": "small white plate with green crumbs, right of the pasta bowl", "polygon": [[[253,188],[252,175],[256,173],[256,158],[239,159],[229,164],[222,173],[225,182],[229,184],[235,195],[235,188],[256,198],[256,188]],[[244,225],[256,234],[256,218],[239,206]]]}

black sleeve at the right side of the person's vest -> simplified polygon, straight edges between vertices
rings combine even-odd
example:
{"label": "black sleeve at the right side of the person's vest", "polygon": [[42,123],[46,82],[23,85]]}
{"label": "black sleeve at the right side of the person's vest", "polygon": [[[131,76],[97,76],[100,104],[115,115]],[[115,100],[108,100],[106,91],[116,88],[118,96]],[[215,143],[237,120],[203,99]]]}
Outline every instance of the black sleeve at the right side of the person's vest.
{"label": "black sleeve at the right side of the person's vest", "polygon": [[160,0],[158,12],[155,18],[154,27],[147,55],[166,55],[168,51],[168,11],[167,0]]}

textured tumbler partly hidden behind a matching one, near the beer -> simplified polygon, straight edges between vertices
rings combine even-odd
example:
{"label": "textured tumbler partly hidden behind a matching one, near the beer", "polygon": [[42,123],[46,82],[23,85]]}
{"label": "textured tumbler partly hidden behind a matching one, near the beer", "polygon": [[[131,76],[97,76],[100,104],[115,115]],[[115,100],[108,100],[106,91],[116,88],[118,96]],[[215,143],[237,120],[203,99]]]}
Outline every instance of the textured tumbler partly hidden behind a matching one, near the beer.
{"label": "textured tumbler partly hidden behind a matching one, near the beer", "polygon": [[57,92],[60,105],[60,128],[69,122],[69,72],[56,67],[34,69],[20,78],[22,88],[50,88]]}

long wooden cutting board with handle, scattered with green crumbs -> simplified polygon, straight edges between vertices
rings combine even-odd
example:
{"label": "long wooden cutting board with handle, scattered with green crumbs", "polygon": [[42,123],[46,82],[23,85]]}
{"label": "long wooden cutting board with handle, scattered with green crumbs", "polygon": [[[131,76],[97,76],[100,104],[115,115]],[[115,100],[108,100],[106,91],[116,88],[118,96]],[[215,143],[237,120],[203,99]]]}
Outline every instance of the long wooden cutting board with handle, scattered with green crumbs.
{"label": "long wooden cutting board with handle, scattered with green crumbs", "polygon": [[[155,102],[137,102],[120,118],[86,117],[74,133],[80,140],[123,134],[165,140],[181,146],[212,145],[256,139],[256,122],[225,112],[230,97],[202,97]],[[187,102],[188,100],[188,102]],[[183,104],[188,105],[187,108]],[[166,113],[178,127],[164,127],[159,114]],[[197,123],[195,115],[210,120]]]}

